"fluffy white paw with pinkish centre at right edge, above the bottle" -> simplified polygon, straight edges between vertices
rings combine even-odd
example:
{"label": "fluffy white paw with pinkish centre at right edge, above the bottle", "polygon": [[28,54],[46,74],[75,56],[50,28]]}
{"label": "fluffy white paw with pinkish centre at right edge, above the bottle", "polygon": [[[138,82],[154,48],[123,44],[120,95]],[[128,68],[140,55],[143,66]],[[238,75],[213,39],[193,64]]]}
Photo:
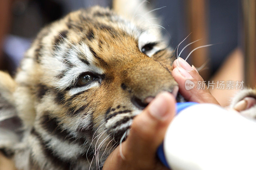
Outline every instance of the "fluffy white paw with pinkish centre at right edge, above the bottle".
{"label": "fluffy white paw with pinkish centre at right edge, above the bottle", "polygon": [[238,92],[230,107],[246,117],[256,119],[256,89],[244,89]]}

